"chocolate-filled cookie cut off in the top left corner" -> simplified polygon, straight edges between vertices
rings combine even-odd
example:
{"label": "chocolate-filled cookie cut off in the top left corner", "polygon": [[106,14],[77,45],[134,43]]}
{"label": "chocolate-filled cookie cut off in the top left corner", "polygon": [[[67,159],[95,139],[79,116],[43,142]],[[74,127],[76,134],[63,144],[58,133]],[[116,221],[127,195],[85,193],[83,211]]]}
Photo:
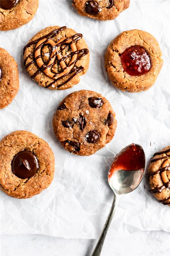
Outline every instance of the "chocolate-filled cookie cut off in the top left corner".
{"label": "chocolate-filled cookie cut off in the top left corner", "polygon": [[1,0],[0,30],[19,28],[30,20],[38,8],[39,0]]}

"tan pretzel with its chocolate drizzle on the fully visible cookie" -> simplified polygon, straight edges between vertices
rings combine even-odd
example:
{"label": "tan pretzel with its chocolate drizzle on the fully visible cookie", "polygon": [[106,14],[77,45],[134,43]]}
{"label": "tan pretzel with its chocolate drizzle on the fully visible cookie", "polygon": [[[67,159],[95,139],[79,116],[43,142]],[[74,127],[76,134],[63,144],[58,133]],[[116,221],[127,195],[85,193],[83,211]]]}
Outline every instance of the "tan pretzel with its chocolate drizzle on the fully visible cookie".
{"label": "tan pretzel with its chocolate drizzle on the fully visible cookie", "polygon": [[[56,87],[56,88],[59,88],[59,87],[63,86],[64,84],[68,83],[74,76],[76,76],[79,72],[81,72],[84,69],[83,67],[79,67],[79,68],[74,67],[77,60],[80,60],[83,56],[88,54],[88,49],[77,50],[77,47],[75,44],[78,40],[80,40],[83,37],[82,34],[76,34],[76,35],[71,36],[70,38],[62,38],[57,43],[55,43],[51,39],[54,36],[58,35],[65,28],[66,27],[61,27],[59,29],[53,30],[48,35],[43,36],[37,40],[30,42],[24,47],[24,52],[25,52],[27,47],[31,46],[32,44],[36,44],[34,53],[31,53],[30,55],[28,55],[26,57],[26,59],[24,60],[24,65],[26,66],[25,68],[28,68],[35,61],[37,63],[37,66],[39,67],[39,69],[33,74],[33,76],[31,76],[31,79],[33,80],[34,77],[37,76],[41,71],[44,72],[48,77],[54,79],[54,81],[52,83],[48,84],[45,88],[48,88],[52,84],[55,84],[58,80],[62,79],[64,76],[67,76],[67,75],[73,73],[73,75],[70,76],[70,78],[68,78],[65,82],[63,82],[62,84],[59,84]],[[41,56],[41,47],[44,44],[50,44],[52,47],[54,47],[54,50],[51,53],[51,56],[48,60],[47,65],[44,64],[44,62],[42,60],[42,56]],[[69,54],[67,56],[62,56],[60,47],[63,44],[67,44],[67,45],[62,48],[62,51],[70,46],[70,48],[72,50],[71,54]],[[78,54],[80,54],[80,53],[81,53],[81,55],[78,57]],[[30,61],[26,65],[26,61],[31,56],[34,56],[33,60]],[[64,60],[67,60],[70,57],[71,57],[71,61],[68,65],[66,65]],[[60,64],[63,71],[60,73],[52,72],[51,68],[53,67],[54,64]]]}

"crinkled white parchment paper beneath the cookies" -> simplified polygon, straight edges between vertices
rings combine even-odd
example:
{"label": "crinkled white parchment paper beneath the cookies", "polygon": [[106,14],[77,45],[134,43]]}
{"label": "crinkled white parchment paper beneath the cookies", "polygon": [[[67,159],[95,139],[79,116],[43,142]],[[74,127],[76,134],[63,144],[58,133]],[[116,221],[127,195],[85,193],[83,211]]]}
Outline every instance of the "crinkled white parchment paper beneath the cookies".
{"label": "crinkled white parchment paper beneath the cookies", "polygon": [[[13,102],[0,110],[0,139],[15,130],[27,130],[46,140],[55,154],[55,177],[48,189],[30,199],[0,192],[2,234],[46,234],[64,238],[97,238],[112,204],[107,170],[130,143],[141,144],[147,161],[170,144],[170,1],[133,1],[111,21],[78,15],[71,0],[40,0],[31,22],[0,32],[0,46],[18,63],[20,89]],[[50,91],[30,80],[23,66],[23,47],[42,28],[59,25],[82,33],[90,49],[90,66],[81,82],[65,91]],[[146,92],[122,92],[112,86],[104,70],[104,52],[110,41],[129,29],[143,29],[158,40],[164,65],[155,85]],[[52,117],[63,98],[87,89],[105,96],[118,120],[114,139],[92,156],[75,156],[62,148],[52,128]],[[151,143],[151,144],[150,144]],[[149,163],[149,162],[148,162]],[[170,232],[170,207],[148,192],[148,179],[122,197],[108,237],[139,230]]]}

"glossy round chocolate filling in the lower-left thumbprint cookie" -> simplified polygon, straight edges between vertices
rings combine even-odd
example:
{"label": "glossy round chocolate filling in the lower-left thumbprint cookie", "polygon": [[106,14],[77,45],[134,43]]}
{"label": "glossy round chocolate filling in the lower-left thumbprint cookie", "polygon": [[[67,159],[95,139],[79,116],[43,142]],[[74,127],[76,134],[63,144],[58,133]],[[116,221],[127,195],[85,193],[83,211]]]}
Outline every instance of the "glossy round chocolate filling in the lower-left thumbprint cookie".
{"label": "glossy round chocolate filling in the lower-left thumbprint cookie", "polygon": [[36,156],[29,151],[21,151],[12,160],[12,172],[20,179],[31,178],[39,168]]}

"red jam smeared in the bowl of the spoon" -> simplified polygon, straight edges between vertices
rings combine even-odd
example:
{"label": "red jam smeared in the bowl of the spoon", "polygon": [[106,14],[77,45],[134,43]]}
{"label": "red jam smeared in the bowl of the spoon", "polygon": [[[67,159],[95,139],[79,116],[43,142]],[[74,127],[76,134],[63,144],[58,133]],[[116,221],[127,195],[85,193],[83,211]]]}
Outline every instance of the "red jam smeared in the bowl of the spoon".
{"label": "red jam smeared in the bowl of the spoon", "polygon": [[145,155],[142,148],[138,145],[131,144],[128,147],[124,148],[123,151],[120,152],[116,156],[116,159],[112,163],[108,177],[111,176],[120,170],[125,171],[138,171],[141,170],[144,172],[145,166]]}

